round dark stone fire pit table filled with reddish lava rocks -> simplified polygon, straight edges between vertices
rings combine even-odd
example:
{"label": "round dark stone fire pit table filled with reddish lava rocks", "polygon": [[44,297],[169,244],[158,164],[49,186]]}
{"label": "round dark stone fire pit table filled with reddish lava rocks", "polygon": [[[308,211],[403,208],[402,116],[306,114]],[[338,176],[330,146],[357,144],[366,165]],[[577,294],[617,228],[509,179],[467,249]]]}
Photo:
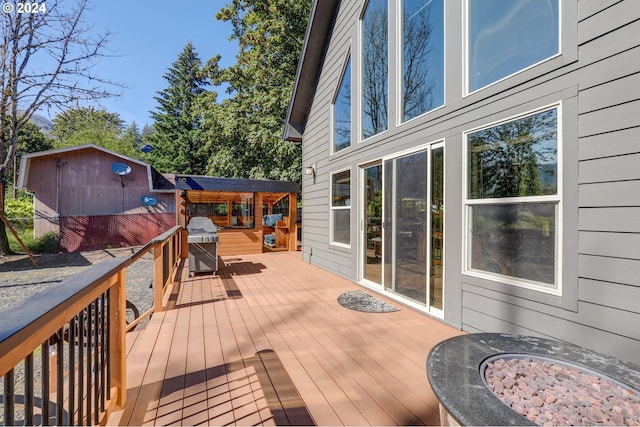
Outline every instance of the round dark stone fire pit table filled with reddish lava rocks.
{"label": "round dark stone fire pit table filled with reddish lava rocks", "polygon": [[[604,384],[613,384],[613,387],[621,388],[631,396],[632,403],[625,403],[631,408],[631,420],[635,424],[635,416],[640,406],[636,402],[640,390],[640,367],[619,359],[595,353],[585,348],[569,343],[552,341],[544,338],[508,335],[508,334],[469,334],[461,335],[445,340],[436,345],[427,358],[427,376],[433,391],[440,401],[440,421],[442,425],[541,425],[554,423],[548,420],[546,423],[537,420],[536,423],[525,416],[526,411],[518,413],[499,398],[491,390],[492,379],[485,377],[485,370],[493,369],[497,364],[499,369],[506,365],[505,360],[533,360],[536,364],[550,364],[560,366],[561,373],[553,374],[558,377],[572,377],[580,371],[579,376],[585,375],[587,386],[591,386],[594,377],[604,379]],[[555,368],[554,368],[555,369]],[[493,375],[493,373],[492,373]],[[505,377],[505,374],[499,374]],[[555,382],[556,381],[551,376]],[[524,374],[507,372],[506,376],[520,379]],[[599,381],[599,380],[598,380]],[[529,384],[522,384],[517,390],[520,395],[534,396]],[[499,385],[499,388],[505,387]],[[606,388],[605,385],[596,385],[598,390]],[[493,387],[495,388],[495,387]],[[517,388],[517,387],[516,387]],[[586,387],[585,387],[586,388]],[[571,392],[571,394],[569,394]],[[560,392],[561,393],[561,392]],[[507,393],[508,394],[508,393]],[[566,391],[567,396],[574,396],[574,390]],[[544,394],[541,393],[542,396]],[[578,396],[581,396],[581,392]],[[608,394],[607,394],[608,395]],[[613,394],[612,394],[613,395]],[[565,399],[564,397],[560,397]],[[553,408],[559,408],[561,402],[557,395],[548,395],[547,401],[554,404]],[[573,399],[575,397],[567,397]],[[584,407],[591,410],[591,406],[597,406],[593,397],[584,397]],[[538,399],[540,400],[540,399]],[[544,401],[544,397],[542,398]],[[591,403],[593,402],[593,404]],[[539,412],[538,404],[544,402],[527,403],[534,412]],[[615,404],[610,406],[619,408]],[[559,410],[559,409],[557,409]],[[565,411],[566,408],[562,407]],[[599,410],[599,409],[598,409]],[[627,409],[624,409],[627,411]],[[625,412],[626,413],[626,412]],[[610,420],[611,421],[611,420]],[[610,423],[613,423],[612,421]],[[567,424],[571,425],[570,422]],[[613,423],[615,424],[615,423]]]}

